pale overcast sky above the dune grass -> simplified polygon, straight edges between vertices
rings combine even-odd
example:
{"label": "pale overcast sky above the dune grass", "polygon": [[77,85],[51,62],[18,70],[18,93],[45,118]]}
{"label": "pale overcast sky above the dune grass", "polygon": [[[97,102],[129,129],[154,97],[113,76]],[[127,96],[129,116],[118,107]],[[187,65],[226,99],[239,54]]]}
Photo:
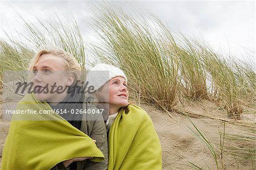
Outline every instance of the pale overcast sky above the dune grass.
{"label": "pale overcast sky above the dune grass", "polygon": [[[85,42],[93,42],[92,30],[86,25],[93,13],[92,1],[0,1],[0,38],[6,39],[3,32],[20,31],[22,21],[36,23],[36,17],[44,18],[45,13],[56,13],[60,16],[71,13],[77,20]],[[147,14],[154,13],[171,30],[179,30],[185,35],[204,39],[216,51],[242,59],[255,59],[255,2],[254,1],[112,1],[129,14],[134,11]]]}

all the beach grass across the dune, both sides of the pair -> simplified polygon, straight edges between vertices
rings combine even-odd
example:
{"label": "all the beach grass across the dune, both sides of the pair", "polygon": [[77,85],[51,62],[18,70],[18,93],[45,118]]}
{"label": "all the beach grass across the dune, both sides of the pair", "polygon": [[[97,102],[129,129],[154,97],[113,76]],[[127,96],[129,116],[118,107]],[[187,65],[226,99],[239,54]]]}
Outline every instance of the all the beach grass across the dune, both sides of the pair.
{"label": "all the beach grass across the dune, both sides of the pair", "polygon": [[[35,50],[51,44],[74,55],[83,69],[86,64],[97,63],[121,68],[128,77],[131,98],[153,105],[170,117],[174,112],[184,113],[176,107],[183,99],[212,101],[226,111],[231,123],[242,119],[245,108],[256,114],[255,65],[217,53],[204,42],[171,31],[155,15],[138,15],[137,19],[114,7],[98,10],[93,29],[101,43],[91,47],[94,62],[86,60],[88,47],[75,19],[61,20],[56,16],[32,24],[21,18],[27,34],[20,36],[26,41],[0,40],[0,89],[3,72],[26,70]],[[217,169],[225,169],[225,159],[236,161],[237,166],[240,161],[251,161],[251,168],[255,169],[255,128],[240,125],[247,132],[240,135],[220,131],[220,142],[213,143],[191,123],[192,134],[208,148]],[[187,166],[203,169],[191,161]]]}

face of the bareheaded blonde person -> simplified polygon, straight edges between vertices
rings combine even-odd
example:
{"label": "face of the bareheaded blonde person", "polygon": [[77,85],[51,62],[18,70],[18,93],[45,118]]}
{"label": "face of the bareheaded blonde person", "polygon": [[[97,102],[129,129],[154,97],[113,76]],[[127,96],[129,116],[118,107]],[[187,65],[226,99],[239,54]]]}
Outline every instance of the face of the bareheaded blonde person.
{"label": "face of the bareheaded blonde person", "polygon": [[68,75],[65,71],[63,59],[52,54],[40,56],[32,73],[36,98],[52,105],[63,101],[67,96],[66,87],[74,81],[74,76]]}

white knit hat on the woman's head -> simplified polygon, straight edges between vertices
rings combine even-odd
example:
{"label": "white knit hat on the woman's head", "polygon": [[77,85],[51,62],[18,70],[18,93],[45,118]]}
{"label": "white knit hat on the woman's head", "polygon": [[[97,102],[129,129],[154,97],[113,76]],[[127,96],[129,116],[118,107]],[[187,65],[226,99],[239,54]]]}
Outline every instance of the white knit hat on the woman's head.
{"label": "white knit hat on the woman's head", "polygon": [[94,90],[98,90],[111,78],[118,76],[125,78],[127,82],[127,77],[121,69],[109,64],[97,64],[88,72],[86,81],[88,81],[88,87],[94,86]]}

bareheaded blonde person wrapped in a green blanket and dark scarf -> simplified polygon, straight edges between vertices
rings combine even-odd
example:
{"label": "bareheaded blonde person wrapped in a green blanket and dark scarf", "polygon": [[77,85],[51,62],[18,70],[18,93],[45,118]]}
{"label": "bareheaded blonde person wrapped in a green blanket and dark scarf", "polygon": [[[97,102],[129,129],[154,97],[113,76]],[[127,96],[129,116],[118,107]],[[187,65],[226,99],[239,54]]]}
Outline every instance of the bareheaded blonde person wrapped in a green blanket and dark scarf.
{"label": "bareheaded blonde person wrapped in a green blanket and dark scarf", "polygon": [[[43,47],[28,69],[34,90],[17,110],[33,109],[37,114],[14,115],[2,169],[106,169],[108,144],[102,115],[73,114],[88,109],[76,83],[81,68],[75,57],[60,48]],[[42,114],[46,112],[51,114]]]}

